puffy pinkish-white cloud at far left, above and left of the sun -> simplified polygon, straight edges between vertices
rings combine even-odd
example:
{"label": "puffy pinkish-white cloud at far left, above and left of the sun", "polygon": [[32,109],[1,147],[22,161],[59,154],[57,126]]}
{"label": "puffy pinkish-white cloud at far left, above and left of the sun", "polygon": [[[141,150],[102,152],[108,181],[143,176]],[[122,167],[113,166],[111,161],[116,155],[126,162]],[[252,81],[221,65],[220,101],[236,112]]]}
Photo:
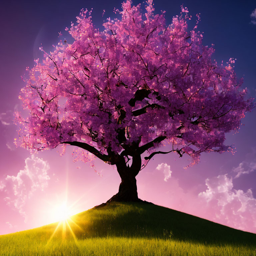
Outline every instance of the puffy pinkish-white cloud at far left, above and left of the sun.
{"label": "puffy pinkish-white cloud at far left, above and left of the sun", "polygon": [[48,186],[50,177],[47,171],[49,169],[50,167],[47,161],[32,155],[25,159],[23,170],[20,170],[16,176],[7,175],[5,184],[1,182],[2,187],[6,187],[5,192],[8,193],[5,201],[8,205],[13,205],[18,209],[20,214],[25,218],[25,221],[26,213],[24,206],[35,191],[43,191]]}

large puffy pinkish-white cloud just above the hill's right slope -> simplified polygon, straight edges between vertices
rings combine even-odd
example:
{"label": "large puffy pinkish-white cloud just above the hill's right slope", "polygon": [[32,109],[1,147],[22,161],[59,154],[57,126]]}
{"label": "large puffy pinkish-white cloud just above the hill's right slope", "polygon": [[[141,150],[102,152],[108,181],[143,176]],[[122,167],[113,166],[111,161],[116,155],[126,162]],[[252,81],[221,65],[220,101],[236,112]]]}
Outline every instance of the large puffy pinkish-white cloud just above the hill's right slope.
{"label": "large puffy pinkish-white cloud just above the hill's right slope", "polygon": [[[212,209],[213,221],[238,229],[256,228],[256,199],[251,189],[247,192],[233,189],[227,174],[206,179],[207,190],[198,194]],[[206,210],[207,211],[207,210]]]}

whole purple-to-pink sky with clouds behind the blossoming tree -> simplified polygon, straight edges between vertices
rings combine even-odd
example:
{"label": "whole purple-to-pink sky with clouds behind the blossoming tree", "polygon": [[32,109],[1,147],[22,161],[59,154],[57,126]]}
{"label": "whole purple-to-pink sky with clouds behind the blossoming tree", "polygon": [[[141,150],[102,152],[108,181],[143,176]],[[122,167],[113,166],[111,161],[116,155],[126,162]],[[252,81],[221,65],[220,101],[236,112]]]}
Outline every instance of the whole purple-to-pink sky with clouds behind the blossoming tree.
{"label": "whole purple-to-pink sky with clouds behind the blossoming tree", "polygon": [[[96,161],[73,162],[72,146],[60,156],[60,148],[30,155],[16,148],[14,110],[22,111],[18,99],[26,67],[42,60],[41,44],[50,52],[61,39],[69,38],[65,27],[75,22],[80,9],[93,8],[92,20],[114,18],[122,1],[4,1],[0,9],[0,235],[39,227],[58,220],[67,205],[70,214],[106,202],[118,192],[120,177],[113,167]],[[139,1],[133,1],[138,4]],[[155,14],[166,11],[166,23],[188,7],[195,17],[203,44],[214,44],[218,63],[235,58],[238,78],[248,97],[256,96],[256,3],[255,1],[158,0]],[[103,10],[105,14],[102,16]],[[190,26],[194,25],[195,19]],[[234,155],[203,153],[197,165],[184,169],[190,159],[175,154],[157,155],[137,176],[139,198],[186,212],[223,225],[256,233],[256,109],[242,119],[238,133],[226,135]]]}

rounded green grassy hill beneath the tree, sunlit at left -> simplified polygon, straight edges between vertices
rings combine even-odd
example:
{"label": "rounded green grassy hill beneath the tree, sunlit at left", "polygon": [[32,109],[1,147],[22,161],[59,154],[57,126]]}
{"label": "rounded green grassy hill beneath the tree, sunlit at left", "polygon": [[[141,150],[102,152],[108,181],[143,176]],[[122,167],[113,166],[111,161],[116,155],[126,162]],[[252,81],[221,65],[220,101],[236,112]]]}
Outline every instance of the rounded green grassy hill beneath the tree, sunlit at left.
{"label": "rounded green grassy hill beneath the tree, sunlit at left", "polygon": [[256,255],[256,234],[157,205],[112,203],[72,220],[72,232],[54,223],[0,236],[0,255]]}

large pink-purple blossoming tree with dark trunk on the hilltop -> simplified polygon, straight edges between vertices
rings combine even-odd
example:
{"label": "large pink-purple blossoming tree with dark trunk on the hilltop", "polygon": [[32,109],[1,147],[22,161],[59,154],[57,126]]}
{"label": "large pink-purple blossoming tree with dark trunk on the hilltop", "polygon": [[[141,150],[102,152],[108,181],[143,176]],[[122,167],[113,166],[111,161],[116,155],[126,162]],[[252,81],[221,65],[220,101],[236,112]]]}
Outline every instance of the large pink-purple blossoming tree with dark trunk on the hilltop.
{"label": "large pink-purple blossoming tree with dark trunk on the hilltop", "polygon": [[188,31],[187,8],[168,26],[165,12],[153,12],[152,0],[144,14],[127,0],[100,32],[82,9],[66,28],[74,42],[60,41],[50,54],[41,48],[42,63],[27,68],[19,98],[29,114],[15,113],[17,146],[72,145],[74,160],[115,165],[121,184],[109,201],[140,200],[136,176],[156,154],[187,154],[194,164],[202,152],[231,150],[225,133],[254,107],[234,60],[217,65],[213,47],[202,45],[199,16]]}

